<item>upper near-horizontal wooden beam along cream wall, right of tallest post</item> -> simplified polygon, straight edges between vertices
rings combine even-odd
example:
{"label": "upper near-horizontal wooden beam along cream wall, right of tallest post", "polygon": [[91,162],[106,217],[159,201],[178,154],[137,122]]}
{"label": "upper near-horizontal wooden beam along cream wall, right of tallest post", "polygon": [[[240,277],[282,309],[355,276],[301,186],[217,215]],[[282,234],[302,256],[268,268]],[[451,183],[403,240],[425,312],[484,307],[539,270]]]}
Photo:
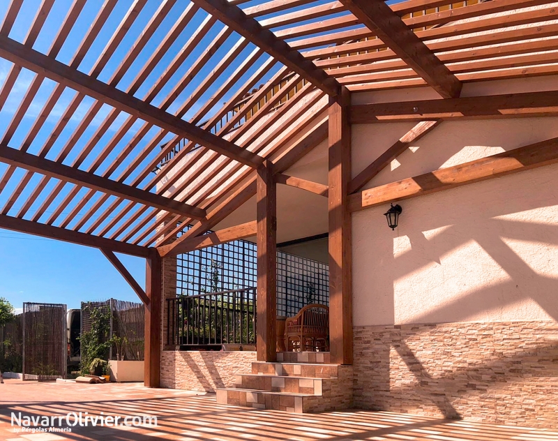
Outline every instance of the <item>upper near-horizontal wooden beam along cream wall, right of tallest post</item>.
{"label": "upper near-horizontal wooden beam along cream wall, right of tallest post", "polygon": [[437,118],[544,117],[558,114],[557,103],[558,91],[403,101],[353,105],[349,119],[351,124],[368,124]]}

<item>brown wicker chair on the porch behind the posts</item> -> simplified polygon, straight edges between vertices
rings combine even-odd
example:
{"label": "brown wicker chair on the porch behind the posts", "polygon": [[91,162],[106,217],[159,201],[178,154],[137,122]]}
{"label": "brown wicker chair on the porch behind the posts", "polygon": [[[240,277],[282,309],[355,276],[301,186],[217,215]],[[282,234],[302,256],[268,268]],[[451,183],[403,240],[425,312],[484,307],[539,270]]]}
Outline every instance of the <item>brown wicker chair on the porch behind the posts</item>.
{"label": "brown wicker chair on the porch behind the posts", "polygon": [[329,308],[311,304],[285,322],[285,346],[289,352],[329,351]]}

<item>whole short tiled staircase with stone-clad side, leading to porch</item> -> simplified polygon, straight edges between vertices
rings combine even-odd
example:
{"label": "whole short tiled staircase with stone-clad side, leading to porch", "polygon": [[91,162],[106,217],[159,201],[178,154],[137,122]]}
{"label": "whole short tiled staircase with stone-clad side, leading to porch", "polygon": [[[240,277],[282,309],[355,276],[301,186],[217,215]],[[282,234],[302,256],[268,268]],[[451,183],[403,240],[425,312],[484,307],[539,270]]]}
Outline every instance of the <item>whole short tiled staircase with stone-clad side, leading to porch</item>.
{"label": "whole short tiled staircase with stone-clad side, leading to porch", "polygon": [[352,366],[330,364],[329,352],[278,352],[277,360],[253,362],[235,387],[217,389],[217,402],[295,413],[351,407]]}

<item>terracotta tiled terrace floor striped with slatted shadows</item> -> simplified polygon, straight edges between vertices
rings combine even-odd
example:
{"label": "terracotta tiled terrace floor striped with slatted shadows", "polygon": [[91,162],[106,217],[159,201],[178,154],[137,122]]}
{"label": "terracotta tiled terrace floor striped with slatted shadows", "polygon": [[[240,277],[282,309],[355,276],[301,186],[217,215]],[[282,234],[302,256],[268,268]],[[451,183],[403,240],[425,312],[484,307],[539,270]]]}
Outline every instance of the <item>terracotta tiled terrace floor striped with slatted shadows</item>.
{"label": "terracotta tiled terrace floor striped with slatted shadows", "polygon": [[[11,412],[22,415],[130,416],[158,418],[151,428],[74,428],[72,433],[14,433]],[[558,431],[492,426],[465,421],[416,417],[391,412],[287,414],[234,408],[216,403],[215,395],[141,384],[55,384],[6,380],[0,384],[0,439],[55,440],[558,440]]]}

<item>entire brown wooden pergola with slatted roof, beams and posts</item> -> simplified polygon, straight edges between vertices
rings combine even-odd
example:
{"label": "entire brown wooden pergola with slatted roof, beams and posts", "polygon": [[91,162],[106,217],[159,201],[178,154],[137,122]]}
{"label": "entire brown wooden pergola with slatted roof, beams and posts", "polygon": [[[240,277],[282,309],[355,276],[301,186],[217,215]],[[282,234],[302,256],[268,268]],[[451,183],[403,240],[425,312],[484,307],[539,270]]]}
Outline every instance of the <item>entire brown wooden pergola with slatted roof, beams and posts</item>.
{"label": "entire brown wooden pergola with slatted roof, beams and posts", "polygon": [[[351,364],[352,211],[558,160],[557,140],[548,140],[361,191],[445,119],[558,114],[558,91],[460,97],[467,82],[558,73],[558,7],[550,1],[165,0],[138,32],[152,2],[130,0],[122,10],[122,1],[105,0],[77,42],[70,36],[91,2],[73,0],[47,50],[36,47],[50,41],[43,28],[56,0],[40,2],[18,40],[15,22],[28,14],[22,3],[10,2],[0,27],[0,57],[10,63],[0,107],[22,72],[33,73],[0,142],[0,227],[105,253],[146,305],[151,387],[159,376],[161,259],[256,233],[257,354],[275,359],[276,184],[328,197],[331,360]],[[429,87],[440,98],[351,104],[352,92],[405,87]],[[416,126],[352,179],[350,126],[378,121]],[[285,174],[326,139],[329,186]],[[153,174],[162,160],[165,170],[188,171],[186,182],[181,173]],[[256,221],[206,234],[253,196]],[[184,225],[193,227],[176,239]],[[145,291],[115,252],[146,258]]]}

